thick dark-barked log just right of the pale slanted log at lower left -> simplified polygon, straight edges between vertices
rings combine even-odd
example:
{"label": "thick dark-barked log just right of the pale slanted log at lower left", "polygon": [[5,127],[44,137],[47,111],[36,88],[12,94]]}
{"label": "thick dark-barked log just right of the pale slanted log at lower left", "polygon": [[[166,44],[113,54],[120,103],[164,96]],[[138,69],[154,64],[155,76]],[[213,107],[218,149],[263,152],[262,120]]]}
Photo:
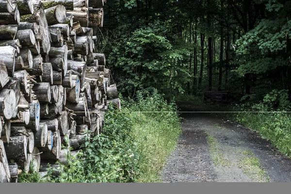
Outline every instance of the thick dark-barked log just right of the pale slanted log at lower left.
{"label": "thick dark-barked log just right of the pale slanted log at lower left", "polygon": [[27,139],[25,135],[10,137],[9,144],[4,144],[7,159],[25,159]]}

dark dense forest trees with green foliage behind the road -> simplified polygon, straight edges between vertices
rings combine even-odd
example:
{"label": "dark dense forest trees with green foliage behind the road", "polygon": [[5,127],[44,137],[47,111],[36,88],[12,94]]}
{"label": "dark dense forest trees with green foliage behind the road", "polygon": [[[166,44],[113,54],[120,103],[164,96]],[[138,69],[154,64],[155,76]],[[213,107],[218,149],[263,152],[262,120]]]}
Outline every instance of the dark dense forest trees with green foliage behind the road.
{"label": "dark dense forest trees with green foliage behind the road", "polygon": [[288,0],[109,0],[97,47],[128,97],[230,90],[257,103],[290,87]]}

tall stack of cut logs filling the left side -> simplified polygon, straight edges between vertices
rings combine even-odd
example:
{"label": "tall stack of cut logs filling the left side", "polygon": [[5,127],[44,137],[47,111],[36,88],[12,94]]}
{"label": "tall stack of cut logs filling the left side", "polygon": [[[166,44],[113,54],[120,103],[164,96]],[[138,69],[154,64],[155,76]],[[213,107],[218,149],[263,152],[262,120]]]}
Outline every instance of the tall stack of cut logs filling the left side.
{"label": "tall stack of cut logs filling the left side", "polygon": [[103,0],[0,0],[0,182],[66,163],[61,145],[80,149],[83,132],[101,132],[107,104],[120,109],[95,53],[102,25]]}

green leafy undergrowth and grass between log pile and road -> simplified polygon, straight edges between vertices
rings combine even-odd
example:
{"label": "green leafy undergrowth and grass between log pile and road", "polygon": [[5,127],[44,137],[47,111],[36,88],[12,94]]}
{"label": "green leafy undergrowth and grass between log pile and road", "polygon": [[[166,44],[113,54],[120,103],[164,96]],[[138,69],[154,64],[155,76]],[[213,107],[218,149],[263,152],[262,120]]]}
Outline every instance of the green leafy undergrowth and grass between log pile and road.
{"label": "green leafy undergrowth and grass between log pile and road", "polygon": [[[174,102],[167,103],[154,90],[122,100],[105,113],[102,133],[87,133],[86,143],[55,178],[38,173],[22,174],[19,182],[157,182],[166,157],[174,150],[180,122]],[[90,143],[89,143],[90,142]]]}

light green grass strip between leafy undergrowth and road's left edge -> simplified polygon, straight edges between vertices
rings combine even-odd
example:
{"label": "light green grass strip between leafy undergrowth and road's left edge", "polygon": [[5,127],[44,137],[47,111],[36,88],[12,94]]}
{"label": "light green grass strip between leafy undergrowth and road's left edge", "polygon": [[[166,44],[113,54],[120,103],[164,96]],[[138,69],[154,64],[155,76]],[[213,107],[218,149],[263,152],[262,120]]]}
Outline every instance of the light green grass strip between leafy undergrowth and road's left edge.
{"label": "light green grass strip between leafy undergrowth and road's left edge", "polygon": [[141,113],[132,130],[134,142],[142,157],[139,162],[139,182],[159,182],[160,172],[169,154],[174,150],[180,133],[180,124],[157,113]]}

